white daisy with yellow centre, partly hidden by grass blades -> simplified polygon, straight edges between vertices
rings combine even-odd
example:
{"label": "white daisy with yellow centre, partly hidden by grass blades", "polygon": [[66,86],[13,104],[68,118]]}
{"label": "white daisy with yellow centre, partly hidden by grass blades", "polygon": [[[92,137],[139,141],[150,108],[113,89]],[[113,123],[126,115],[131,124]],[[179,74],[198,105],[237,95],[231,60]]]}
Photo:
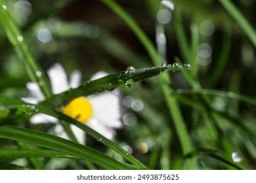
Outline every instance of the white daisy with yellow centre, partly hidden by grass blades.
{"label": "white daisy with yellow centre, partly hidden by grass blades", "polygon": [[[70,88],[77,88],[81,82],[80,71],[75,70],[71,75],[68,82],[66,72],[62,65],[59,63],[54,64],[47,74],[51,81],[51,87],[54,94],[65,92]],[[106,73],[100,71],[91,78],[95,80]],[[31,97],[22,98],[22,100],[37,104],[45,100],[45,96],[41,92],[39,86],[34,82],[28,82],[26,85]],[[104,137],[113,140],[116,135],[116,129],[122,127],[121,112],[120,112],[120,93],[118,90],[113,92],[100,93],[91,95],[89,97],[77,97],[66,105],[62,112],[72,118],[77,119],[79,122],[89,125],[92,129],[102,134]],[[58,124],[58,119],[46,114],[35,114],[30,119],[32,124],[46,124],[54,123],[54,133],[60,137],[68,139],[62,125]],[[84,144],[85,133],[78,127],[72,125],[72,131],[77,137],[77,140]]]}

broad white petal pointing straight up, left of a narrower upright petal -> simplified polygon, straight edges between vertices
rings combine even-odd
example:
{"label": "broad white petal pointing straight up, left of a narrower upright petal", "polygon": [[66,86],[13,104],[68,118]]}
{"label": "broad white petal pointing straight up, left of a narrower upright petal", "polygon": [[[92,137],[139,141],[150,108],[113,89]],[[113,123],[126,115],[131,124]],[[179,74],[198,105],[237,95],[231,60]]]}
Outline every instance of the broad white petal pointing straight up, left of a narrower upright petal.
{"label": "broad white petal pointing straight up, left of a narrower upright petal", "polygon": [[47,74],[51,80],[51,86],[54,94],[65,92],[69,89],[66,73],[60,63],[54,64]]}

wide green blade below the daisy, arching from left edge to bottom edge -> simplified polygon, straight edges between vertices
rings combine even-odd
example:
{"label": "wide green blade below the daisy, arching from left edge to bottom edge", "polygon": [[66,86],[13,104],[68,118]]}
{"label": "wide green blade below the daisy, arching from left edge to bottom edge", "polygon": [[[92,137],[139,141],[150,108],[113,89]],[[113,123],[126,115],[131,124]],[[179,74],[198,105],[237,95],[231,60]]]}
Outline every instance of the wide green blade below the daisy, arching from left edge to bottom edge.
{"label": "wide green blade below the daisy, arching from left edge to bottom edge", "polygon": [[64,152],[70,156],[77,156],[81,159],[96,163],[97,165],[105,167],[106,169],[129,169],[129,167],[119,163],[119,161],[116,161],[115,159],[112,159],[101,152],[93,150],[92,148],[56,137],[54,135],[34,131],[32,129],[24,129],[14,126],[2,126],[0,127],[0,137],[34,144],[58,152]]}

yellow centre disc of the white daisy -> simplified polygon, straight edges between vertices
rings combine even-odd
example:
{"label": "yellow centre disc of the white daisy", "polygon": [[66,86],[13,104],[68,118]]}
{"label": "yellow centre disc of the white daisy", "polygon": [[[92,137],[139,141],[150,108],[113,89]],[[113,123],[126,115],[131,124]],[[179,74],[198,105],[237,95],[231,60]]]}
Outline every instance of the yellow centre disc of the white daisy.
{"label": "yellow centre disc of the white daisy", "polygon": [[77,97],[70,101],[62,112],[79,122],[85,123],[93,114],[91,104],[85,97]]}

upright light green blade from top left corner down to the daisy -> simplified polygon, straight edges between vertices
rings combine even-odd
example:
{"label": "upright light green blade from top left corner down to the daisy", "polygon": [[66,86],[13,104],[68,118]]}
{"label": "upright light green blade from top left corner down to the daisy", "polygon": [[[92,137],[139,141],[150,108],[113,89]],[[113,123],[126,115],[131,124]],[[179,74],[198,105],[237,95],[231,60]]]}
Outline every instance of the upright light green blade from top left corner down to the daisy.
{"label": "upright light green blade from top left corner down to the daisy", "polygon": [[40,68],[37,61],[35,61],[32,52],[26,44],[24,36],[14,22],[11,12],[9,12],[9,7],[4,6],[2,0],[0,0],[0,4],[0,24],[2,25],[7,38],[11,42],[12,46],[14,46],[16,54],[18,54],[22,61],[24,61],[24,66],[30,79],[39,84],[39,87],[41,88],[45,97],[50,97],[51,88],[49,85],[49,80],[45,76],[45,73]]}

